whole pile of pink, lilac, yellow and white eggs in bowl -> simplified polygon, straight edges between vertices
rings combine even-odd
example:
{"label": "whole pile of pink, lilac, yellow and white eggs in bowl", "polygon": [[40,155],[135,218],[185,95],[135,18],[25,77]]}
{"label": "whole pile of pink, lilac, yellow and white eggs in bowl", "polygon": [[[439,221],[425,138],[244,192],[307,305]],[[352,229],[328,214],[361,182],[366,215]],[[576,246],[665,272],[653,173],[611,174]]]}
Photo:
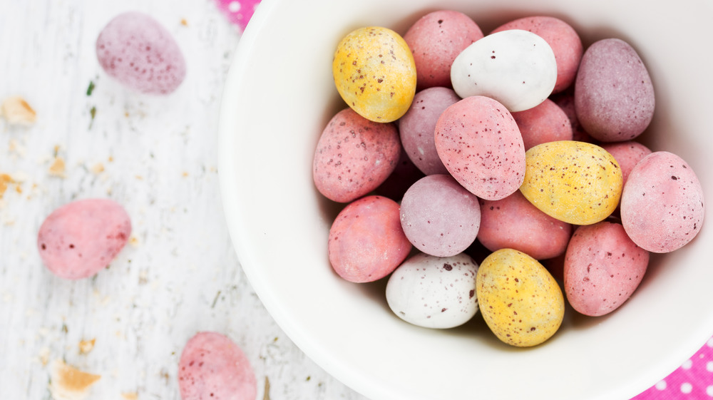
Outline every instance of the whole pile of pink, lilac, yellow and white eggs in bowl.
{"label": "whole pile of pink, lilac, yellow and white eggs in bowl", "polygon": [[352,31],[332,68],[346,106],[312,165],[319,193],[345,205],[329,261],[350,282],[388,279],[406,322],[447,329],[479,309],[502,342],[535,346],[566,303],[591,317],[621,307],[650,252],[701,229],[691,166],[635,141],[654,87],[621,39],[583,46],[551,16],[484,35],[438,10],[403,38]]}

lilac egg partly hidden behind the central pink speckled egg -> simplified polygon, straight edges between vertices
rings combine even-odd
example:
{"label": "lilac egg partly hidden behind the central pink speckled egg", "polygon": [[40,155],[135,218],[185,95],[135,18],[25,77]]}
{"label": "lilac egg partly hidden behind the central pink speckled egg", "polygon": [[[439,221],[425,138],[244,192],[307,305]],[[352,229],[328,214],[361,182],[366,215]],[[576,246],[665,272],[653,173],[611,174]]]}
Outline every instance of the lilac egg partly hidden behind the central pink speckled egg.
{"label": "lilac egg partly hidden behind the central pink speckled egg", "polygon": [[460,100],[451,88],[427,88],[416,93],[411,108],[399,119],[401,145],[426,175],[448,173],[434,143],[436,122],[446,108]]}

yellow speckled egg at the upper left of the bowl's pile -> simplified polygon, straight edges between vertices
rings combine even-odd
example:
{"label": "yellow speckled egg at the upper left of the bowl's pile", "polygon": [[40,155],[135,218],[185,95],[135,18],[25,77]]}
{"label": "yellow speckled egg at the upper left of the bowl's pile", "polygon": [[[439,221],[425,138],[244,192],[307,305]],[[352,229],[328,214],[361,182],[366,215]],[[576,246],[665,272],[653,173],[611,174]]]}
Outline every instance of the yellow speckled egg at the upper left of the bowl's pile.
{"label": "yellow speckled egg at the upper left of the bowl's pile", "polygon": [[356,113],[391,122],[409,111],[416,94],[416,63],[396,32],[366,26],[344,36],[334,52],[337,91]]}

